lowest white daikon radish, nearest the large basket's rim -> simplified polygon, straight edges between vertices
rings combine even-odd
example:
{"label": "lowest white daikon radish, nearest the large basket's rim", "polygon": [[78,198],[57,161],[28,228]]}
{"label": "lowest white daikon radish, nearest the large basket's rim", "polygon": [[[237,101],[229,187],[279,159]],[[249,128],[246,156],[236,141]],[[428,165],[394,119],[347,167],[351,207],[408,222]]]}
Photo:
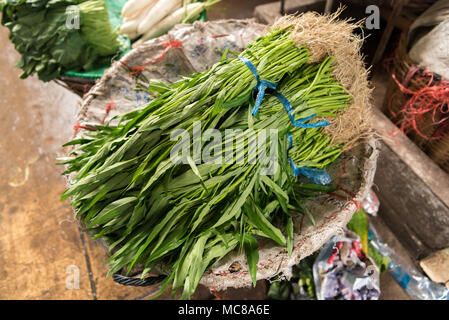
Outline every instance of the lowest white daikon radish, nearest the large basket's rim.
{"label": "lowest white daikon radish, nearest the large basket's rim", "polygon": [[142,40],[155,38],[166,33],[173,28],[174,25],[181,23],[184,20],[184,17],[185,20],[198,18],[205,8],[206,4],[204,2],[195,2],[188,4],[185,8],[176,10],[150,28],[150,30],[142,36]]}

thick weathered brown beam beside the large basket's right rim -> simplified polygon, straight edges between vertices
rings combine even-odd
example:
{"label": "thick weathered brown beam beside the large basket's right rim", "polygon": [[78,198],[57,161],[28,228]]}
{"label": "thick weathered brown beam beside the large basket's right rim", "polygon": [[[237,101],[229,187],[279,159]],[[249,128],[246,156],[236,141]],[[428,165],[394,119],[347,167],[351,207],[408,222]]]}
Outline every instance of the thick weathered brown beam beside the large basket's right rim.
{"label": "thick weathered brown beam beside the large basket's right rim", "polygon": [[379,215],[414,259],[449,243],[449,179],[378,109],[373,124],[382,137],[374,179]]}

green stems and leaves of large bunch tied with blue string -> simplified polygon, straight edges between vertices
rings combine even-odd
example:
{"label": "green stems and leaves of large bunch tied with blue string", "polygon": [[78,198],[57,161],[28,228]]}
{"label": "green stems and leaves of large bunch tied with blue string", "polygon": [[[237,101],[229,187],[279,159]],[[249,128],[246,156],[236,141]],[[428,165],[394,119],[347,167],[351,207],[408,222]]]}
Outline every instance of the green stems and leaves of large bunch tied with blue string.
{"label": "green stems and leaves of large bunch tied with blue string", "polygon": [[[343,146],[319,124],[338,117],[351,96],[332,76],[333,59],[309,63],[290,32],[273,29],[239,58],[178,82],[151,81],[157,96],[146,107],[67,144],[78,146],[60,163],[76,174],[63,199],[71,198],[86,231],[109,244],[110,273],[140,265],[145,277],[162,266],[170,274],[162,291],[171,284],[188,298],[207,268],[234,249],[245,250],[254,283],[258,239],[292,251],[294,215],[313,221],[304,199],[332,190],[298,183],[297,173],[313,179],[340,155]],[[266,91],[262,100],[254,88]],[[195,149],[210,150],[212,142],[193,133],[209,129],[221,133],[213,146],[232,161],[198,159]],[[237,133],[229,138],[231,129]],[[173,139],[182,130],[189,135]],[[267,130],[278,134],[261,134]],[[255,141],[263,152],[251,148]],[[188,153],[177,162],[171,154],[180,145]]]}

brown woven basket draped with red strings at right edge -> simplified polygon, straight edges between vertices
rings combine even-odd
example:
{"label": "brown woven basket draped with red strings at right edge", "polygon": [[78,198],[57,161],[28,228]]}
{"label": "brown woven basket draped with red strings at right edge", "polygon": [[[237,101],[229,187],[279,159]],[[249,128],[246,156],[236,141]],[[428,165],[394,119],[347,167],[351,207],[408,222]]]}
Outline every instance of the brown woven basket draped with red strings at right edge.
{"label": "brown woven basket draped with red strings at right edge", "polygon": [[[396,76],[396,79],[406,88],[416,91],[428,85],[428,79],[418,76],[419,68],[412,62],[406,49],[406,37],[403,35],[399,42],[398,48],[392,64],[391,73]],[[415,72],[416,71],[416,72]],[[438,75],[436,75],[439,77]],[[401,110],[407,100],[407,95],[404,94],[390,78],[387,92],[384,100],[384,113],[390,117],[395,123],[399,123],[403,119]],[[417,128],[425,137],[431,137],[438,126],[434,124],[431,114],[424,114],[417,123]],[[426,139],[416,131],[412,130],[407,133],[407,136],[415,142],[415,144],[424,152],[426,152],[438,165],[445,171],[449,172],[449,137],[445,136],[442,139],[430,140]]]}

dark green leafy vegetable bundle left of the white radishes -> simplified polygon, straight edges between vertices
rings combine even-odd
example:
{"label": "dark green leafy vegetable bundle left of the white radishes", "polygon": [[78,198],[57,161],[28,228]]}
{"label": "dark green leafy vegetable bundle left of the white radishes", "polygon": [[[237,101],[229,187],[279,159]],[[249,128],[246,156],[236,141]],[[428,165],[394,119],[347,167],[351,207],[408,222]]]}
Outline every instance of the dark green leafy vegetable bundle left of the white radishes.
{"label": "dark green leafy vegetable bundle left of the white radishes", "polygon": [[91,70],[119,48],[103,0],[6,0],[2,25],[22,55],[21,78],[37,73],[50,81],[66,71]]}

